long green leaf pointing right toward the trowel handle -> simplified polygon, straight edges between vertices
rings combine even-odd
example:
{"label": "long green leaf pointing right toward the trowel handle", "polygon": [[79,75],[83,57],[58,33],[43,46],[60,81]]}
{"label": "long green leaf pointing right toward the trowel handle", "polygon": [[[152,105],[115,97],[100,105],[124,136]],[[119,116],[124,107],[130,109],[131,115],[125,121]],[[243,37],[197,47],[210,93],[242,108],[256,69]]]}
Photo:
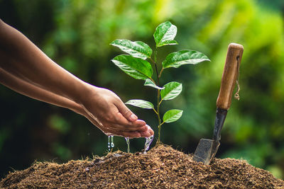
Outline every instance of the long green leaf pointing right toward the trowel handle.
{"label": "long green leaf pointing right toward the trowel handle", "polygon": [[162,62],[163,69],[169,67],[178,68],[183,64],[198,64],[203,61],[210,61],[210,59],[195,50],[181,50],[179,52],[170,53]]}

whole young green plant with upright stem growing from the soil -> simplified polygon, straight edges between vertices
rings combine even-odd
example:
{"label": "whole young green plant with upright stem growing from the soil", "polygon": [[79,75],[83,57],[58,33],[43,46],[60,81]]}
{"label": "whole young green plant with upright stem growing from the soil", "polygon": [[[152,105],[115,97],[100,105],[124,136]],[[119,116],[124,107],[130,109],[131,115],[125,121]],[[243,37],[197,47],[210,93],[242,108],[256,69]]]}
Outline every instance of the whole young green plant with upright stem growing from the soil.
{"label": "whole young green plant with upright stem growing from the soil", "polygon": [[[165,69],[178,68],[183,64],[198,64],[203,61],[210,61],[207,56],[195,50],[180,50],[172,52],[165,60],[161,62],[162,69],[158,70],[157,51],[159,47],[164,45],[178,45],[174,40],[177,34],[177,27],[169,21],[161,23],[155,29],[154,40],[155,47],[153,50],[146,43],[131,40],[114,40],[111,45],[119,47],[122,51],[129,55],[119,55],[111,59],[117,67],[124,71],[134,79],[145,80],[144,86],[151,86],[157,90],[157,102],[154,107],[153,103],[144,100],[130,100],[126,104],[134,105],[139,108],[153,109],[158,117],[158,141],[160,143],[160,127],[165,122],[175,122],[182,116],[182,110],[168,110],[163,115],[163,122],[160,117],[160,105],[163,101],[169,101],[177,97],[182,91],[182,84],[172,81],[160,87],[160,77]],[[148,62],[148,61],[149,62]],[[152,78],[153,69],[156,77]]]}

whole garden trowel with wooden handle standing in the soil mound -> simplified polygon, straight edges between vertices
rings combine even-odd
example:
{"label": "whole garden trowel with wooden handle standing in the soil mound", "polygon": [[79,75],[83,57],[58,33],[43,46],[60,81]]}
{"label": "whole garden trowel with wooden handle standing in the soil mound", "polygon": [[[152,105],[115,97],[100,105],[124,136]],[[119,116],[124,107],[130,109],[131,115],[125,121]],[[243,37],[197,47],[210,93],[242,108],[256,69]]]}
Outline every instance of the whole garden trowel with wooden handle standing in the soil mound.
{"label": "whole garden trowel with wooden handle standing in the soil mound", "polygon": [[[239,77],[239,66],[244,52],[242,45],[231,43],[226,54],[221,87],[217,98],[217,111],[213,132],[213,139],[200,139],[193,160],[209,165],[218,151],[221,139],[221,130],[224,125],[226,113],[231,105],[231,95]],[[237,83],[238,84],[238,83]],[[239,88],[239,84],[238,84]]]}

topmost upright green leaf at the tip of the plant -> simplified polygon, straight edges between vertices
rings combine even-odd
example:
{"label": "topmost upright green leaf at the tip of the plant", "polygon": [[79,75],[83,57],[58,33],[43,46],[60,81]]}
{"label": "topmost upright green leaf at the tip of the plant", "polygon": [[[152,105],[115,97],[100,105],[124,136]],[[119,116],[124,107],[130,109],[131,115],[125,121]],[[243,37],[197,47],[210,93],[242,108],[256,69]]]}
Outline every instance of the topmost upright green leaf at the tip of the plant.
{"label": "topmost upright green leaf at the tip of the plant", "polygon": [[[170,23],[169,21],[165,23],[161,23],[155,28],[154,39],[156,47],[160,47],[163,45],[174,45],[173,39],[175,35],[177,35],[178,28]],[[166,43],[166,41],[172,41]]]}

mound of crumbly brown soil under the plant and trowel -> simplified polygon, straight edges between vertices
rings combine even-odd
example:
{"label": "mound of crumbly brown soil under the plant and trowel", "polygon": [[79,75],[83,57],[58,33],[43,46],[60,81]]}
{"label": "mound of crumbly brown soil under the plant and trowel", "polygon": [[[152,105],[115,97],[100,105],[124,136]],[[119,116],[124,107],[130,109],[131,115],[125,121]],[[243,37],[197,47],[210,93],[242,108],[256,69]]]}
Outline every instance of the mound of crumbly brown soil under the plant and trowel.
{"label": "mound of crumbly brown soil under the plant and trowel", "polygon": [[237,159],[214,159],[210,166],[172,147],[147,154],[121,151],[66,164],[35,162],[9,173],[4,188],[284,188],[284,181]]}

